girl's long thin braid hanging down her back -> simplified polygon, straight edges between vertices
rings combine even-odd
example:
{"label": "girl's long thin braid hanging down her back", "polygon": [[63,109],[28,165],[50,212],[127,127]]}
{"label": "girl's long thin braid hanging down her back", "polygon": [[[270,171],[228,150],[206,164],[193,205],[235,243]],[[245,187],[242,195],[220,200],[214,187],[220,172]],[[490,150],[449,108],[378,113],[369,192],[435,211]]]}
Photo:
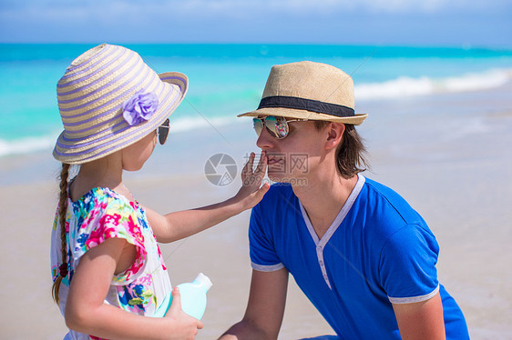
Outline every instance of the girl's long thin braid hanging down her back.
{"label": "girl's long thin braid hanging down her back", "polygon": [[54,285],[52,286],[52,296],[58,305],[58,292],[62,279],[67,276],[67,240],[66,240],[66,213],[67,213],[67,177],[69,175],[69,166],[62,164],[60,172],[60,195],[58,200],[58,222],[60,225],[60,246],[62,249],[62,265],[58,267],[58,272]]}

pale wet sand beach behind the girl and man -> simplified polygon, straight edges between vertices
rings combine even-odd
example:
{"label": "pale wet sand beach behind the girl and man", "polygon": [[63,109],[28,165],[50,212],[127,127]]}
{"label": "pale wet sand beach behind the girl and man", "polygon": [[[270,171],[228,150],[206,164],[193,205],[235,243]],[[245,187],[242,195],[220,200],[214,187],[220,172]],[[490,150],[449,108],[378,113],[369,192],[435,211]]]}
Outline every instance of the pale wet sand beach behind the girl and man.
{"label": "pale wet sand beach behind the girl and man", "polygon": [[[424,216],[441,247],[440,281],[461,306],[473,339],[512,339],[511,92],[507,85],[356,107],[369,114],[360,128],[372,165],[364,175],[394,188]],[[226,153],[241,166],[244,155],[257,151],[256,137],[249,121],[217,130],[206,127],[200,136],[171,130],[165,149],[159,147],[140,173],[126,176],[138,201],[166,213],[234,195],[240,179],[211,185],[204,164],[210,155]],[[49,150],[0,158],[5,339],[62,339],[67,332],[50,295],[57,171]],[[216,338],[243,315],[251,279],[249,214],[161,245],[173,285],[199,272],[213,282],[198,339]],[[329,333],[291,279],[280,339]]]}

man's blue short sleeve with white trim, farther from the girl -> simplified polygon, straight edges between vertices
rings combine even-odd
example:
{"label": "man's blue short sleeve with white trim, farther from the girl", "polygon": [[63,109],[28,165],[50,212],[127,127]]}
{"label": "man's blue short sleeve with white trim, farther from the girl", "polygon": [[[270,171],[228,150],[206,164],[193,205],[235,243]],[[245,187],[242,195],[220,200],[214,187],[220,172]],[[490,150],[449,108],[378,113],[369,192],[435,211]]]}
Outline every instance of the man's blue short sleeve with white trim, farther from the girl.
{"label": "man's blue short sleeve with white trim, farther from the girl", "polygon": [[393,304],[426,301],[437,294],[435,236],[419,225],[405,225],[384,244],[381,285]]}

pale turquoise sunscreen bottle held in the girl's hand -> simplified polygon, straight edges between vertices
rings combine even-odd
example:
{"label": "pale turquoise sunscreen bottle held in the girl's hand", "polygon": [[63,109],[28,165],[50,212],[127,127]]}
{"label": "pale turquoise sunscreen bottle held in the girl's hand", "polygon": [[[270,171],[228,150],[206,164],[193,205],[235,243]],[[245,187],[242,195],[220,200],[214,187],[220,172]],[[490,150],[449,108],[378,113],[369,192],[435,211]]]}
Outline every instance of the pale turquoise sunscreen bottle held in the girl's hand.
{"label": "pale turquoise sunscreen bottle held in the girl's hand", "polygon": [[[202,273],[194,281],[178,285],[183,312],[200,320],[206,309],[206,292],[208,292],[211,285],[208,276]],[[170,304],[172,304],[172,295],[170,295],[169,302],[165,301],[154,316],[162,317],[166,315]]]}

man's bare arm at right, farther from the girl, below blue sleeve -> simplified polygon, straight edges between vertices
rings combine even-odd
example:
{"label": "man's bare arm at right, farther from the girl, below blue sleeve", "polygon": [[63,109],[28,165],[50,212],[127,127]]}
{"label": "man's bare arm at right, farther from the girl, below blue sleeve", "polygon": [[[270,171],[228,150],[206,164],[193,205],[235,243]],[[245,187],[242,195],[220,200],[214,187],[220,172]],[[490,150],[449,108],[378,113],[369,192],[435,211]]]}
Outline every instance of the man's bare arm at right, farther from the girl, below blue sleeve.
{"label": "man's bare arm at right, farther from the girl, below blue sleeve", "polygon": [[441,295],[414,304],[393,304],[398,329],[403,339],[445,339],[445,320]]}

